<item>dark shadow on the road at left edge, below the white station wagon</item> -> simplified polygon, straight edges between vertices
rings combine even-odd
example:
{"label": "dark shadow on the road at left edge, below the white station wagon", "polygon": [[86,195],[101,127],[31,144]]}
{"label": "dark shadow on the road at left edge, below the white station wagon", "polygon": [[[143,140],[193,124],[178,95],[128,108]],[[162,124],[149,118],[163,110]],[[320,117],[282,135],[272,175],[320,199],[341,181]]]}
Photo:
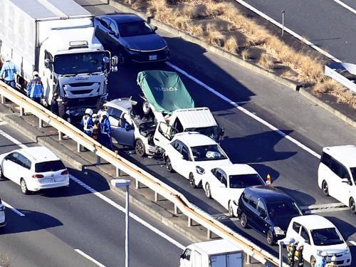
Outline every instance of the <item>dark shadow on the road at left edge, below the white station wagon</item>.
{"label": "dark shadow on the road at left edge, below the white station wagon", "polygon": [[11,209],[5,209],[6,226],[0,229],[0,235],[38,231],[63,225],[58,219],[42,212],[27,209],[18,209],[18,211],[25,216],[19,216]]}

